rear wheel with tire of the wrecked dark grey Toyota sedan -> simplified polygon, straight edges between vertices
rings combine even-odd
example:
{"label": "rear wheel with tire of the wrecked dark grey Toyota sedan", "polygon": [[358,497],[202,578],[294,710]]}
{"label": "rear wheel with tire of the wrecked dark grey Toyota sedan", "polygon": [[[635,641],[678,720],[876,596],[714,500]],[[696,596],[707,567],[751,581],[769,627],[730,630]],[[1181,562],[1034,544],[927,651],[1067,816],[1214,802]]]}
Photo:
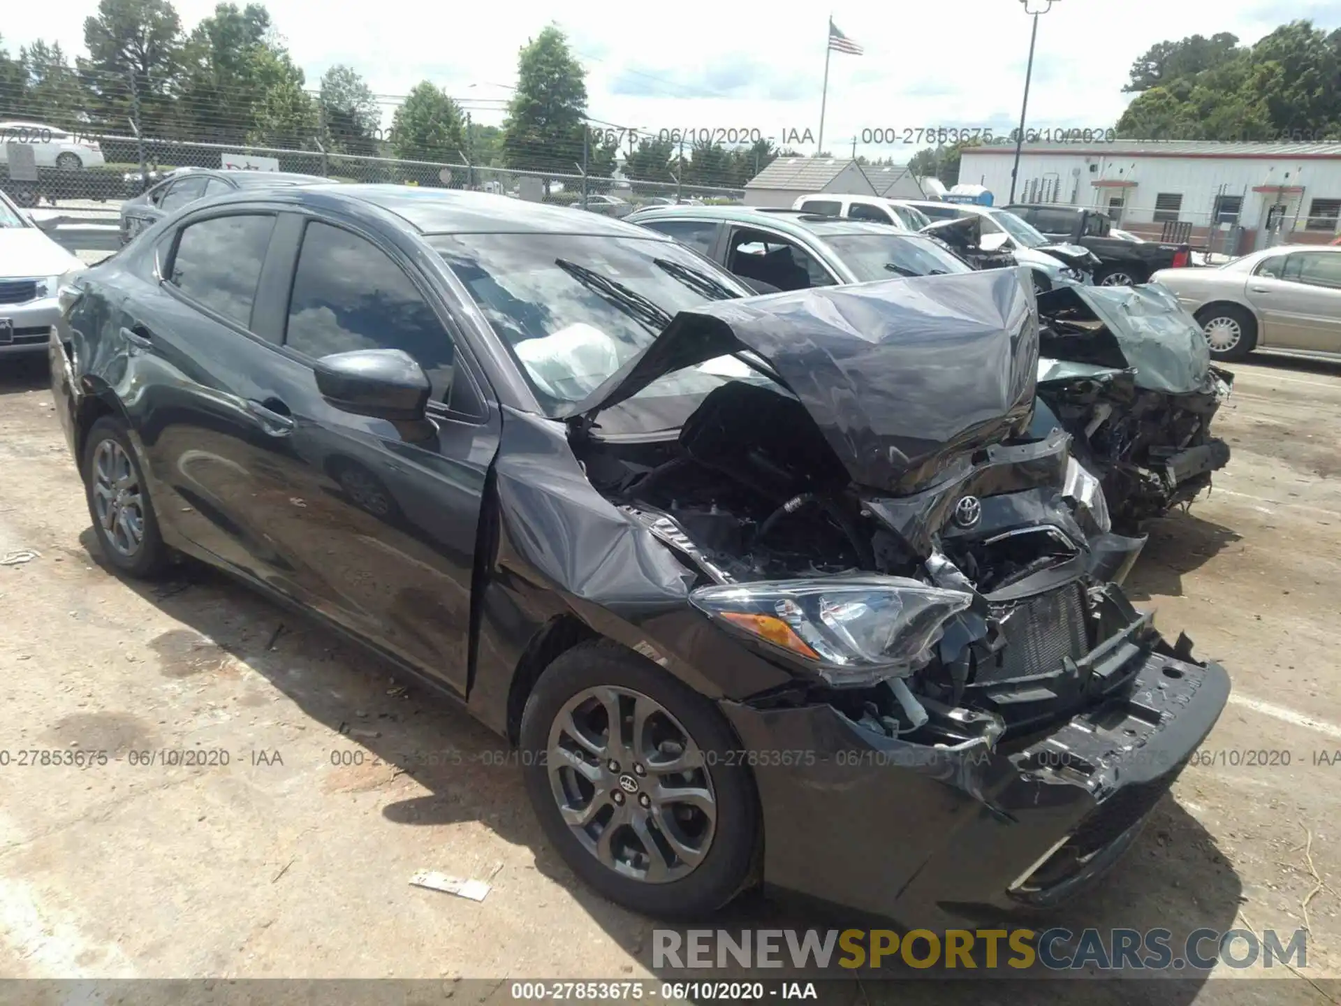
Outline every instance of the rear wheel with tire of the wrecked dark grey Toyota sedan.
{"label": "rear wheel with tire of the wrecked dark grey Toyota sedan", "polygon": [[150,578],[168,565],[149,488],[126,427],[103,416],[84,441],[84,492],[103,558],[131,577]]}

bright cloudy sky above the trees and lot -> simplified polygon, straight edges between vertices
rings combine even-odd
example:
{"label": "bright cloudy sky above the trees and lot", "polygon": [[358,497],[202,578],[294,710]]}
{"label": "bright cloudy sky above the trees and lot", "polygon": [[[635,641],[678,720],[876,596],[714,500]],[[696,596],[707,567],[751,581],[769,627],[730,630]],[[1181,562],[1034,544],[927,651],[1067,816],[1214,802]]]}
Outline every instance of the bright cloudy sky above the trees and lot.
{"label": "bright cloudy sky above the trees and lot", "polygon": [[[239,0],[243,5],[244,0]],[[917,146],[861,142],[878,127],[991,127],[1019,117],[1030,17],[1021,0],[831,0],[838,28],[864,56],[833,54],[825,146],[909,156]],[[1029,0],[1030,9],[1046,0]],[[215,0],[177,0],[190,28]],[[8,5],[0,27],[16,55],[36,38],[83,51],[95,0]],[[827,11],[818,5],[679,0],[673,8],[538,0],[416,4],[409,0],[268,0],[295,60],[315,86],[347,63],[394,98],[430,79],[499,123],[516,52],[559,24],[587,68],[594,119],[637,129],[755,130],[814,152]],[[1030,126],[1108,127],[1130,99],[1133,59],[1164,39],[1231,31],[1255,42],[1297,17],[1341,25],[1341,0],[1055,0],[1039,19]],[[795,142],[810,130],[811,142]]]}

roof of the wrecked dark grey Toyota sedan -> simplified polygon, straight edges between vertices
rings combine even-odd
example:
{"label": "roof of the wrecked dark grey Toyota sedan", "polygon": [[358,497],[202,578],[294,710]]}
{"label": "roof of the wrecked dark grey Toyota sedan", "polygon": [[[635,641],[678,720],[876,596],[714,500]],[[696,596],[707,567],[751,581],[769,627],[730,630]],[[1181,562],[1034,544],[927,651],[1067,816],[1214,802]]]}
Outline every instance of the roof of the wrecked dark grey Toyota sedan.
{"label": "roof of the wrecked dark grey Toyota sedan", "polygon": [[[424,235],[433,233],[567,233],[607,235],[669,241],[665,235],[622,220],[569,209],[546,203],[508,199],[491,192],[436,189],[416,185],[292,185],[271,193],[303,205],[353,209],[374,207]],[[243,203],[248,194],[233,192],[211,200],[211,205]]]}

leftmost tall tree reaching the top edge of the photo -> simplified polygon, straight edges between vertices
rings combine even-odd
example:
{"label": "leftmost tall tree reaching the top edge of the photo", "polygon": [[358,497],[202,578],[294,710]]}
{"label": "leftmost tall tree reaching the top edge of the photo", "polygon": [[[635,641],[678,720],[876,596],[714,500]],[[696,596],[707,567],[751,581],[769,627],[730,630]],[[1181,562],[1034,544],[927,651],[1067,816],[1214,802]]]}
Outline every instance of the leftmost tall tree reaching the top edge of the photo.
{"label": "leftmost tall tree reaching the top edge of the photo", "polygon": [[94,125],[125,133],[138,114],[139,130],[162,135],[173,119],[181,74],[181,20],[168,0],[99,0],[84,19],[87,58],[75,60],[90,94]]}

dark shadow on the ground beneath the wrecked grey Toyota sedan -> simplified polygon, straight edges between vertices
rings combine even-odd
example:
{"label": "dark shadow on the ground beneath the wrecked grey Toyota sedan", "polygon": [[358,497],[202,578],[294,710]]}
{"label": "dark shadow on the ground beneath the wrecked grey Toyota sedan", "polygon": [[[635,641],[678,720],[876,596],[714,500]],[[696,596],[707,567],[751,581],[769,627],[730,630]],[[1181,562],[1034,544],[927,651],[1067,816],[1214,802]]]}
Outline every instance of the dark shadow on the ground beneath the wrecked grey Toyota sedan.
{"label": "dark shadow on the ground beneath the wrecked grey Toyota sedan", "polygon": [[[93,561],[110,574],[91,527],[79,541]],[[823,935],[829,930],[880,926],[869,919],[845,917],[838,909],[817,911],[758,892],[738,899],[696,926],[669,927],[625,911],[594,893],[567,869],[531,812],[516,757],[506,742],[456,703],[397,676],[378,657],[341,641],[315,620],[276,606],[196,562],[182,562],[161,582],[123,582],[185,626],[164,633],[152,644],[165,676],[198,673],[208,663],[200,656],[202,648],[220,648],[266,677],[304,715],[390,766],[390,778],[405,774],[424,787],[422,795],[384,806],[386,821],[410,828],[479,821],[503,841],[526,845],[542,875],[563,887],[614,943],[662,979],[772,981],[801,975],[760,970],[677,971],[653,958],[656,930],[676,928],[681,936],[689,928],[727,930],[739,938],[742,930],[803,932],[813,928]],[[898,841],[897,836],[889,840]],[[1125,860],[1096,891],[1050,917],[1022,924],[1035,931],[1051,924],[1065,926],[1077,935],[1085,927],[1140,931],[1164,927],[1173,931],[1171,946],[1177,954],[1180,940],[1191,930],[1234,928],[1239,900],[1239,880],[1214,840],[1165,795]],[[888,960],[878,971],[852,972],[837,967],[841,956],[835,950],[822,975],[826,1002],[941,1003],[961,999],[982,1006],[992,998],[983,998],[988,990],[983,982],[927,981],[929,972],[898,963],[890,967]],[[1177,976],[1184,974],[1180,971]],[[821,975],[813,972],[809,978],[818,981]],[[1027,981],[1023,985],[1026,987],[1016,991],[1031,1002],[1071,1001],[1073,994],[1081,991],[1070,981]],[[1143,993],[1141,1001],[1191,1002],[1202,982],[1160,981],[1156,985]],[[994,979],[991,989],[994,997],[1004,997],[998,1001],[1011,998],[999,979]],[[1086,1002],[1101,1003],[1130,1002],[1133,994],[1129,982],[1089,981],[1084,991]]]}

